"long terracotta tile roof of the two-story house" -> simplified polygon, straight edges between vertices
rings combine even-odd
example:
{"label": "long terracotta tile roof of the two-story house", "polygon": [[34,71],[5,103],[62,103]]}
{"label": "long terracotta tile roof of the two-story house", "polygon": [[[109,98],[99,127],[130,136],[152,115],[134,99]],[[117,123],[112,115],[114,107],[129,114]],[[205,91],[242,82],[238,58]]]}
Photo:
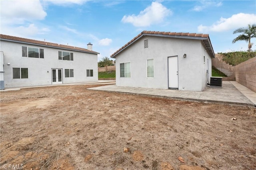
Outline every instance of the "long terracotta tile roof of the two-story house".
{"label": "long terracotta tile roof of the two-story house", "polygon": [[57,47],[60,49],[67,49],[67,50],[73,50],[73,51],[82,51],[82,52],[99,54],[96,51],[90,51],[88,49],[84,49],[84,48],[80,48],[80,47],[73,47],[73,46],[69,46],[69,45],[62,45],[62,44],[57,44],[57,43],[38,41],[38,40],[34,40],[34,39],[14,37],[14,36],[10,36],[10,35],[0,34],[0,39],[7,40],[7,41],[18,41],[18,42],[30,43],[30,44],[35,44],[35,45],[43,45],[43,46],[47,46],[47,47]]}

